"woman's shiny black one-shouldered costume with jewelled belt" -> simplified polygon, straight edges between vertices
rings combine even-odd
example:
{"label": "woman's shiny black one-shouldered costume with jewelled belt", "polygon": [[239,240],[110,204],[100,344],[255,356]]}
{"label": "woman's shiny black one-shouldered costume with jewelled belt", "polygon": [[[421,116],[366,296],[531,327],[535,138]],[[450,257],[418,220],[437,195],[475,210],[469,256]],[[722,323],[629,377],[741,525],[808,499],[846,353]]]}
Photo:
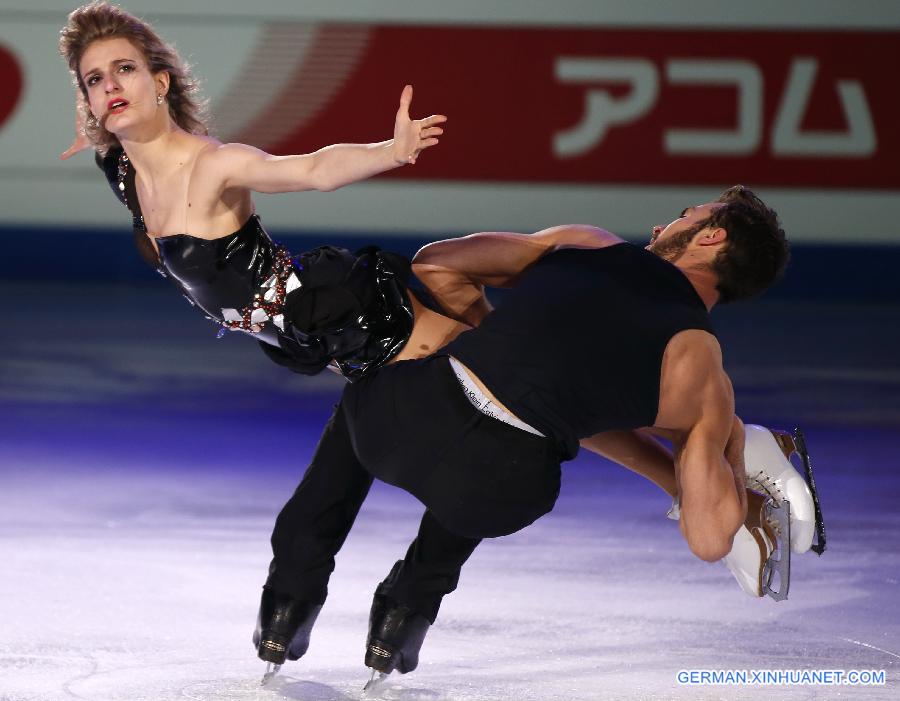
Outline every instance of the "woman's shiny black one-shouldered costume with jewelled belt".
{"label": "woman's shiny black one-shouldered costume with jewelled belt", "polygon": [[157,237],[157,254],[128,157],[111,149],[105,158],[98,155],[97,164],[131,211],[141,257],[220,324],[220,335],[227,328],[245,330],[270,359],[303,374],[334,360],[350,381],[388,362],[409,339],[406,258],[376,247],[351,254],[332,246],[291,257],[256,214],[221,238]]}

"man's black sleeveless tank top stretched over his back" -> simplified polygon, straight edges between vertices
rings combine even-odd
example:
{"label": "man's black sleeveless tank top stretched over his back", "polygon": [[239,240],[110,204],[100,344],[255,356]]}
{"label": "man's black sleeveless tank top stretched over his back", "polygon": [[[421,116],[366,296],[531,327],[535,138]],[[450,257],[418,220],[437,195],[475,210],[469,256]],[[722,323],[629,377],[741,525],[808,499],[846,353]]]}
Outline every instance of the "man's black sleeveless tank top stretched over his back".
{"label": "man's black sleeveless tank top stretched over his back", "polygon": [[687,277],[622,243],[548,254],[444,351],[571,458],[582,438],[653,424],[663,353],[685,329],[712,333]]}

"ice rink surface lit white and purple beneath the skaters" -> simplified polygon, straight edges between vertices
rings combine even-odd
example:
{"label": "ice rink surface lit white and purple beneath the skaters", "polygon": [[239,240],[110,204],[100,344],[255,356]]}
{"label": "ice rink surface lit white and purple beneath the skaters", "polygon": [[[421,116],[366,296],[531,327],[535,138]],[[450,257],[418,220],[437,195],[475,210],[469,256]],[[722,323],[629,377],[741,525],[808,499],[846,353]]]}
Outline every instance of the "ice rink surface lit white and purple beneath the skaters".
{"label": "ice rink surface lit white and purple beneath the skaters", "polygon": [[[584,456],[552,514],[475,553],[419,668],[363,696],[371,595],[420,505],[373,489],[309,653],[260,686],[250,635],[269,531],[338,385],[270,367],[246,339],[214,341],[187,305],[189,325],[167,331],[180,300],[148,299],[161,311],[140,323],[132,297],[106,317],[54,308],[3,339],[3,701],[900,698],[896,356],[857,363],[854,380],[851,363],[828,370],[831,348],[819,364],[776,360],[742,339],[739,404],[812,423],[829,549],[793,558],[787,602],[742,594],[690,555],[661,493]],[[785,382],[792,365],[800,379]],[[887,685],[682,687],[682,669],[884,669]]]}

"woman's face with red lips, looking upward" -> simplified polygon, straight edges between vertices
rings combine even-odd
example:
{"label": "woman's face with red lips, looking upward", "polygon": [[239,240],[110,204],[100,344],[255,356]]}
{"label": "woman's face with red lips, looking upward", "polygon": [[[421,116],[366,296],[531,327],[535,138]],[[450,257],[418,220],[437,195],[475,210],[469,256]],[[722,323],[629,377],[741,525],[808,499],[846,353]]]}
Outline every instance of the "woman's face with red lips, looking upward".
{"label": "woman's face with red lips, looking upward", "polygon": [[166,93],[167,74],[151,74],[141,51],[127,39],[89,44],[79,72],[91,112],[113,134],[153,120],[164,108],[156,96]]}

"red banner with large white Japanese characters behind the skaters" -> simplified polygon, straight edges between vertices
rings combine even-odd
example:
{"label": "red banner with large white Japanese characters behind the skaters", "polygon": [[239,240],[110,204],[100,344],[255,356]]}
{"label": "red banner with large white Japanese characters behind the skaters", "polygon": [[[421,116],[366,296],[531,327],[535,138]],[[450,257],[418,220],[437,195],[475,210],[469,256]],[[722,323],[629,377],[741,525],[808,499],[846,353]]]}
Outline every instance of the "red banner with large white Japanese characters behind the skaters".
{"label": "red banner with large white Japanese characters behind the skaters", "polygon": [[413,116],[449,122],[440,147],[395,177],[900,187],[900,92],[885,78],[900,66],[897,32],[320,25],[316,34],[291,85],[318,106],[304,103],[303,119],[274,142],[256,139],[274,152],[383,139],[412,83]]}

